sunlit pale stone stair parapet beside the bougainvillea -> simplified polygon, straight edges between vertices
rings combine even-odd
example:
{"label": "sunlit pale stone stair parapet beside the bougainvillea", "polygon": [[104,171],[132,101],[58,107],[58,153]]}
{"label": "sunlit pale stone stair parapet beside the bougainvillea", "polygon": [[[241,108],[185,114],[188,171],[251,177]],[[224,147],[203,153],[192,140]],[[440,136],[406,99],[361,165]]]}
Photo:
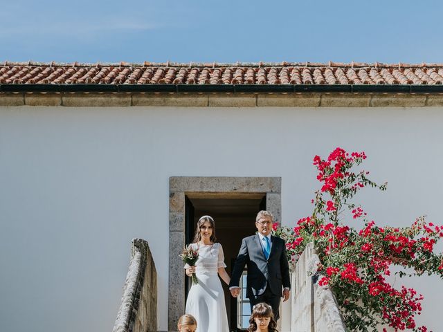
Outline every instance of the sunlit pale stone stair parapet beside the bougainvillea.
{"label": "sunlit pale stone stair parapet beside the bougainvillea", "polygon": [[291,331],[345,332],[334,295],[329,288],[318,286],[315,273],[319,262],[313,243],[309,243],[292,274],[296,293],[291,298]]}

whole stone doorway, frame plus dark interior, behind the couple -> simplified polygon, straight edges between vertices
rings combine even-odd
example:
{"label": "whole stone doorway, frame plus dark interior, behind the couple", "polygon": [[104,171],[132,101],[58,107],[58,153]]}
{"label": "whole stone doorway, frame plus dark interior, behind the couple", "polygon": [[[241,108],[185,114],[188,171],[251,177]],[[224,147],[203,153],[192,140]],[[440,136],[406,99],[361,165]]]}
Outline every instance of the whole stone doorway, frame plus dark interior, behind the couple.
{"label": "whole stone doorway, frame plus dark interior, behind the couple", "polygon": [[[280,223],[280,194],[281,178],[279,177],[180,176],[170,178],[169,331],[177,329],[177,320],[184,312],[186,278],[179,254],[185,243],[192,238],[195,230],[195,219],[198,220],[199,214],[213,213],[217,223],[217,237],[225,247],[226,243],[229,242],[228,233],[229,230],[232,230],[233,225],[230,223],[233,220],[239,221],[242,225],[238,230],[239,239],[251,234],[251,229],[255,230],[253,222],[251,227],[245,220],[249,221],[251,217],[254,220],[257,211],[263,208],[274,215],[275,222]],[[192,206],[192,209],[190,206]],[[190,210],[193,210],[192,215]],[[191,221],[188,221],[188,227],[186,227],[186,219],[191,219]],[[247,234],[242,234],[242,230]],[[225,239],[221,239],[221,237]],[[240,244],[240,240],[237,241],[238,243],[234,243],[235,239],[232,240],[233,248],[228,250],[228,255],[226,255],[229,256],[229,260],[230,256],[233,255],[230,251],[238,251]],[[225,263],[228,265],[228,273],[230,274],[231,262],[225,259]],[[227,295],[228,293],[225,296]],[[230,297],[226,297],[226,302],[228,302],[227,306],[230,309],[230,306],[233,306]],[[230,310],[228,315],[229,313]],[[231,325],[233,321],[235,320],[230,320]]]}

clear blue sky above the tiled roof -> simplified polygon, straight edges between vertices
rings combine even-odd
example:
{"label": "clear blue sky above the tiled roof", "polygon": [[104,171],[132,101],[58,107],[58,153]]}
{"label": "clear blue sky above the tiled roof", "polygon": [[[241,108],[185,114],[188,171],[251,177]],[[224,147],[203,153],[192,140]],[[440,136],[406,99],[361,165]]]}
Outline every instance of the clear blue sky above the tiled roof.
{"label": "clear blue sky above the tiled roof", "polygon": [[0,4],[0,62],[443,62],[439,0]]}

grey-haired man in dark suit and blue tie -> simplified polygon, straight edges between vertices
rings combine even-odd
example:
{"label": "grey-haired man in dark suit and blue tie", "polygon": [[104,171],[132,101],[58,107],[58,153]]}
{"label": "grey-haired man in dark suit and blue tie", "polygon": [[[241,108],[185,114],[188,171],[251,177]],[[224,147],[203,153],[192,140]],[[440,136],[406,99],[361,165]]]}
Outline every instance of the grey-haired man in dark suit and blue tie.
{"label": "grey-haired man in dark suit and blue tie", "polygon": [[258,234],[242,240],[229,289],[233,297],[239,295],[239,279],[246,265],[246,297],[251,302],[251,311],[255,304],[265,302],[272,307],[275,320],[278,320],[280,299],[283,297],[284,302],[289,298],[291,282],[286,244],[280,237],[271,236],[272,223],[271,213],[258,212],[255,219]]}

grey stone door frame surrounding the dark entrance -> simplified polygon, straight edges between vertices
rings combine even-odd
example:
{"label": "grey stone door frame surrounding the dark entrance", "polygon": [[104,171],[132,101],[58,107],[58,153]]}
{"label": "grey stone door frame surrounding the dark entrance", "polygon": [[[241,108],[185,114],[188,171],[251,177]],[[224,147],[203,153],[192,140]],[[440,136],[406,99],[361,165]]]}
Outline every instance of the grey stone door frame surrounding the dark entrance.
{"label": "grey stone door frame surrounding the dark entrance", "polygon": [[172,176],[169,187],[168,331],[177,331],[177,320],[185,309],[185,273],[179,257],[185,246],[185,196],[241,198],[242,195],[266,194],[266,210],[280,224],[282,178]]}

